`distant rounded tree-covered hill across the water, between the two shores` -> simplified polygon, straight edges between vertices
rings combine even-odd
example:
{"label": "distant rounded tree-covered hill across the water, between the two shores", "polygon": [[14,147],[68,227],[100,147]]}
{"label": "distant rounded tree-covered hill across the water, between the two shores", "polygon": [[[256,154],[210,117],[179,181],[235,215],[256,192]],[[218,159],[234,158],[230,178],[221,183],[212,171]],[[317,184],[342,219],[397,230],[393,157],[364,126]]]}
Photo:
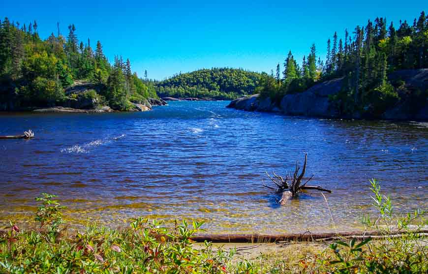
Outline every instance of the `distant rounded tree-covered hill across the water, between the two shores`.
{"label": "distant rounded tree-covered hill across the water, between the two shores", "polygon": [[160,97],[235,99],[253,94],[260,76],[257,72],[235,68],[201,69],[159,82],[156,92]]}

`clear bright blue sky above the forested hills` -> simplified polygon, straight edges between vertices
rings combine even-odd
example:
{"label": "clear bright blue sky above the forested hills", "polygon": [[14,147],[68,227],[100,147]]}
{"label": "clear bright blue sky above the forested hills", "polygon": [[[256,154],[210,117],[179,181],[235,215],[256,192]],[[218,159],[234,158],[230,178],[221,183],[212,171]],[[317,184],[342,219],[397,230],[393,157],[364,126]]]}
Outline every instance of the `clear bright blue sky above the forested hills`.
{"label": "clear bright blue sky above the forested hills", "polygon": [[[425,3],[425,4],[424,4]],[[177,72],[213,66],[270,72],[288,50],[301,61],[312,43],[321,57],[336,30],[353,30],[367,19],[386,17],[398,26],[425,9],[409,1],[37,1],[1,0],[0,17],[21,24],[36,20],[45,39],[63,35],[74,23],[79,39],[100,40],[104,54],[131,60],[139,76],[163,79]]]}

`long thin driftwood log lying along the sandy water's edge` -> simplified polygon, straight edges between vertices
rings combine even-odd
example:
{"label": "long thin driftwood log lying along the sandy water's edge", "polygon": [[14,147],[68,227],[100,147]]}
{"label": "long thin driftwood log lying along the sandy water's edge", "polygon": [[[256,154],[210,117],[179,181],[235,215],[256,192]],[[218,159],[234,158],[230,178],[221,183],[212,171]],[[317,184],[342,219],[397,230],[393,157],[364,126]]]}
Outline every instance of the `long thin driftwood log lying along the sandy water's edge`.
{"label": "long thin driftwood log lying along the sandy water's edge", "polygon": [[[374,240],[381,240],[385,238],[403,237],[407,234],[414,232],[396,231],[390,235],[382,234],[378,231],[353,231],[353,232],[331,232],[331,233],[298,233],[298,234],[200,234],[190,237],[190,239],[197,243],[213,242],[213,243],[281,243],[281,242],[325,242],[336,241],[338,239],[356,239],[363,240],[373,238]],[[415,236],[427,237],[428,230],[420,230]]]}

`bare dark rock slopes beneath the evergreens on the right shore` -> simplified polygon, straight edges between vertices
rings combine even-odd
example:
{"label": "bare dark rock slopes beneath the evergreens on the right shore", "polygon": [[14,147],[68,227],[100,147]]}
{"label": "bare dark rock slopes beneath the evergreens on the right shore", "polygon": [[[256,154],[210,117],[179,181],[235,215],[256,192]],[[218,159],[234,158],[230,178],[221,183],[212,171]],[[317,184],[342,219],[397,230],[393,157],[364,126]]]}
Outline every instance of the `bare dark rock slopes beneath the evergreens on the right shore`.
{"label": "bare dark rock slopes beneath the evergreens on the right shore", "polygon": [[[399,86],[399,102],[387,109],[381,116],[387,120],[428,120],[428,102],[415,102],[415,94],[428,90],[428,69],[400,70],[391,73],[389,80]],[[326,118],[361,118],[360,113],[342,115],[337,109],[336,102],[330,100],[330,95],[337,94],[343,85],[343,78],[316,84],[310,89],[294,94],[285,95],[279,106],[270,98],[260,98],[259,94],[233,100],[227,107],[246,111],[280,111],[285,115],[326,117]],[[418,97],[420,98],[420,97]],[[424,96],[422,96],[424,98]],[[364,118],[370,117],[366,114]]]}

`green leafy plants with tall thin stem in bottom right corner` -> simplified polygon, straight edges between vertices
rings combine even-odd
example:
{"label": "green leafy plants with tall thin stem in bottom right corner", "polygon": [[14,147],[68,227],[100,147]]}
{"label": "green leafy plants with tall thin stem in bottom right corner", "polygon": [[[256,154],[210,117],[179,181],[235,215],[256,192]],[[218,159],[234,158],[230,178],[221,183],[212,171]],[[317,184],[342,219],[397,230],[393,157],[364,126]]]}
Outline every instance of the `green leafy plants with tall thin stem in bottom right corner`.
{"label": "green leafy plants with tall thin stem in bottom right corner", "polygon": [[[349,243],[337,241],[330,247],[336,260],[330,260],[334,273],[426,273],[428,271],[427,246],[422,228],[428,224],[424,211],[414,211],[396,216],[389,196],[380,192],[380,185],[372,179],[373,207],[378,216],[363,218],[366,229],[374,229],[382,240],[370,243],[367,238],[359,243],[355,238]],[[373,221],[374,220],[374,221]],[[399,234],[399,236],[397,236]],[[340,248],[339,248],[340,246]]]}

